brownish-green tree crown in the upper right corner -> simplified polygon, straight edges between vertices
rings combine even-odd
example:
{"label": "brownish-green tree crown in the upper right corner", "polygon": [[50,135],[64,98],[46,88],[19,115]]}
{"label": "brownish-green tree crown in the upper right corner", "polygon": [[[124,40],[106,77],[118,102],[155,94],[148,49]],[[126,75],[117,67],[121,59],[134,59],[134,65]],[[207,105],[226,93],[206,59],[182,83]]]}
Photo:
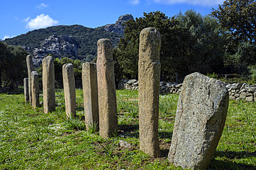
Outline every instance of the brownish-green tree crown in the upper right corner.
{"label": "brownish-green tree crown in the upper right corner", "polygon": [[235,44],[255,42],[255,0],[226,0],[217,10],[212,9],[211,14],[223,28],[228,29]]}

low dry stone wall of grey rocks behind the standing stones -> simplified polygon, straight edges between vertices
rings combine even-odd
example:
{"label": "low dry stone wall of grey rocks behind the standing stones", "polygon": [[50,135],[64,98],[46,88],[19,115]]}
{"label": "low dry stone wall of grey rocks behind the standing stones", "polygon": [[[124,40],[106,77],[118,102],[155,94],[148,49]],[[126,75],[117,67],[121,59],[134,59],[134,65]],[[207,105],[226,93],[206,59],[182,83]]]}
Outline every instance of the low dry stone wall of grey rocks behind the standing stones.
{"label": "low dry stone wall of grey rocks behind the standing stones", "polygon": [[[180,94],[182,83],[160,82],[160,93]],[[229,98],[231,100],[244,99],[248,102],[256,102],[256,85],[248,85],[246,83],[226,83]],[[121,80],[118,89],[138,89],[138,81],[136,79]]]}

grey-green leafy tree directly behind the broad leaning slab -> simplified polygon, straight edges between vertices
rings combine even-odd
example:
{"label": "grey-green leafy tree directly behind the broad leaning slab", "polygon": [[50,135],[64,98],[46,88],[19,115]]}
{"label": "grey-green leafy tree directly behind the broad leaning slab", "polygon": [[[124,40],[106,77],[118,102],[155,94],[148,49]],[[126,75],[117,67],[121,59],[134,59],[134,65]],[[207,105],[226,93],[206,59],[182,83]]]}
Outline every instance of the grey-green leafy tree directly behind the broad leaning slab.
{"label": "grey-green leafy tree directly behind the broad leaning slab", "polygon": [[[222,29],[216,19],[188,10],[176,16],[181,27],[188,30],[186,39],[188,56],[186,56],[188,73],[220,73],[223,70],[223,59],[228,45],[228,32]],[[184,69],[184,68],[183,68]]]}

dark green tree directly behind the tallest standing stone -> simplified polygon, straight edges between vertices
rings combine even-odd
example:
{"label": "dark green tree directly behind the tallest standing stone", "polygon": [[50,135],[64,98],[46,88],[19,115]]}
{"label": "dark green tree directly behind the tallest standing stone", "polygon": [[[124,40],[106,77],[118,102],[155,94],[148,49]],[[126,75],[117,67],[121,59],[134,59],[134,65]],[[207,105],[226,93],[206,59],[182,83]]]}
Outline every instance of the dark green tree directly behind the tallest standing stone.
{"label": "dark green tree directly behind the tallest standing stone", "polygon": [[[183,28],[179,27],[176,19],[170,19],[163,12],[144,12],[144,17],[129,20],[125,23],[125,38],[120,39],[118,48],[114,53],[120,68],[126,78],[138,78],[138,50],[140,31],[144,28],[154,27],[161,33],[161,76],[174,74],[176,63],[182,63],[179,56],[183,56]],[[177,61],[175,63],[175,61]],[[180,62],[178,62],[180,61]]]}

